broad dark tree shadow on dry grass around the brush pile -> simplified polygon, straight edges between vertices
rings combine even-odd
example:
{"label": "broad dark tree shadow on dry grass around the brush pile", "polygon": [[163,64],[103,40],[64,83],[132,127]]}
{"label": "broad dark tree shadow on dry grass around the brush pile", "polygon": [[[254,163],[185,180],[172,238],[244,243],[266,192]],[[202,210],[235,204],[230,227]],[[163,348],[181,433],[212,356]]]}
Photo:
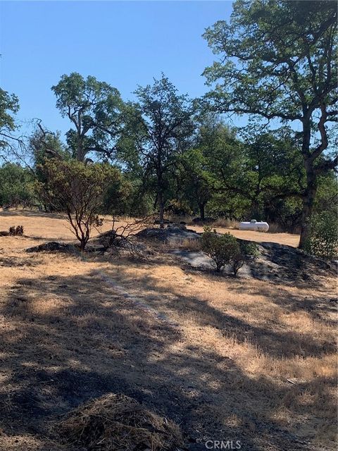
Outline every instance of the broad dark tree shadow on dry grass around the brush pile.
{"label": "broad dark tree shadow on dry grass around the brush pile", "polygon": [[[128,283],[126,273],[123,278]],[[158,299],[144,299],[153,307],[192,311],[201,327],[231,329],[239,342],[252,329],[201,299],[169,296],[149,280],[139,284],[158,293]],[[283,397],[296,390],[293,385],[253,378],[232,359],[187,345],[180,326],[170,326],[122,297],[97,271],[22,278],[8,290],[0,314],[0,419],[8,434],[46,435],[61,414],[114,392],[180,424],[190,450],[205,450],[206,440],[242,440],[242,449],[250,451],[311,449],[274,419]],[[286,339],[261,328],[253,328],[252,336],[273,355],[268,341]],[[324,352],[309,337],[292,340],[295,350],[305,347],[308,355]],[[282,345],[276,349],[277,355],[285,355]],[[333,399],[325,402],[333,408]]]}

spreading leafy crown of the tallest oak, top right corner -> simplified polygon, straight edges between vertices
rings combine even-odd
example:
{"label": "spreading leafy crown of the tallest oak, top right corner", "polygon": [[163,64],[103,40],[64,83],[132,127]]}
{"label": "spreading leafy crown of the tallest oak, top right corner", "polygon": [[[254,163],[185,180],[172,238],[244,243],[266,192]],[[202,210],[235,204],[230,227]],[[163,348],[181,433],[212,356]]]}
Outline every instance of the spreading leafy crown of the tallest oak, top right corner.
{"label": "spreading leafy crown of the tallest oak, top right corner", "polygon": [[204,34],[220,54],[205,70],[218,82],[211,98],[223,111],[282,120],[301,118],[304,102],[313,111],[323,98],[331,104],[336,25],[331,1],[235,1],[230,23],[220,20]]}

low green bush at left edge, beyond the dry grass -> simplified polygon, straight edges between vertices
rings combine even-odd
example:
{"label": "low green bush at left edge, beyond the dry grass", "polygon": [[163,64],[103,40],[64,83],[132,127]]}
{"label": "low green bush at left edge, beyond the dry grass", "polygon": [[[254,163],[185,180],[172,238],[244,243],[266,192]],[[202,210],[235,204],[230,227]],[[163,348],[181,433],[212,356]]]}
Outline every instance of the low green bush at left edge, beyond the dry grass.
{"label": "low green bush at left edge, beyond the dry grass", "polygon": [[34,197],[32,174],[16,163],[0,166],[0,205],[29,205]]}

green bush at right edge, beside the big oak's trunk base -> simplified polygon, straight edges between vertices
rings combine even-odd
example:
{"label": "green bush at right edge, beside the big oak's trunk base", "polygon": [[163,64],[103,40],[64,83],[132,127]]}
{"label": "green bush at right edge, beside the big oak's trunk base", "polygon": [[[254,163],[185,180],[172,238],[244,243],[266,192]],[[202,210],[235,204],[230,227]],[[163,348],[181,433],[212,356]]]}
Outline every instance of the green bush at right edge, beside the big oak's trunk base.
{"label": "green bush at right edge, beside the big oak's trunk base", "polygon": [[311,221],[311,235],[306,243],[306,250],[310,254],[326,260],[337,257],[337,211],[325,211],[313,215]]}

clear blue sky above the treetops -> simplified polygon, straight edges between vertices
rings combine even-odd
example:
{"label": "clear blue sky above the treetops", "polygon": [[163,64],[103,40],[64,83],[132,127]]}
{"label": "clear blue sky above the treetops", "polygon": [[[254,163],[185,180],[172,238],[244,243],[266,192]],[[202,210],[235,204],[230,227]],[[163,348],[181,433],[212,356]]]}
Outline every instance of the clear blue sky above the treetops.
{"label": "clear blue sky above the treetops", "polygon": [[64,73],[94,75],[132,99],[163,71],[198,97],[213,61],[201,35],[231,10],[231,1],[1,1],[0,85],[18,95],[20,121],[62,132],[70,124],[51,86]]}

